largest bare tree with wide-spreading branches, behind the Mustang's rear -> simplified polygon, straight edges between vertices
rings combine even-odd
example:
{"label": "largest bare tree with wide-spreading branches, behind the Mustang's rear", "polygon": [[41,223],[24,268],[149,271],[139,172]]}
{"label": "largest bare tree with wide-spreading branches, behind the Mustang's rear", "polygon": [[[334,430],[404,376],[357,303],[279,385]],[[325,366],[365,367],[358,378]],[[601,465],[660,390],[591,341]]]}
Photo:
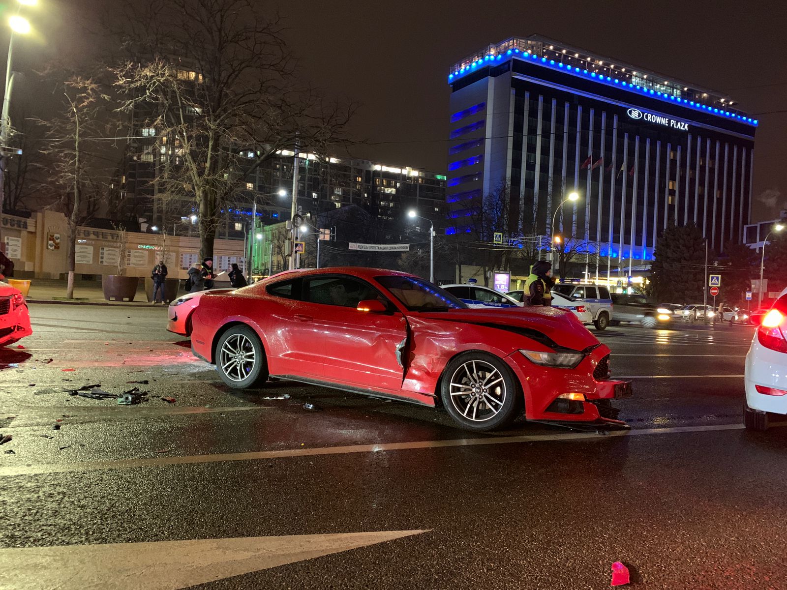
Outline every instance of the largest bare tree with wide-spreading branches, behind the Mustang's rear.
{"label": "largest bare tree with wide-spreading branches, behind the Mustang's rear", "polygon": [[297,81],[283,24],[261,4],[137,0],[120,19],[130,56],[113,68],[120,110],[174,149],[159,192],[195,202],[201,257],[249,174],[282,149],[327,153],[354,110]]}

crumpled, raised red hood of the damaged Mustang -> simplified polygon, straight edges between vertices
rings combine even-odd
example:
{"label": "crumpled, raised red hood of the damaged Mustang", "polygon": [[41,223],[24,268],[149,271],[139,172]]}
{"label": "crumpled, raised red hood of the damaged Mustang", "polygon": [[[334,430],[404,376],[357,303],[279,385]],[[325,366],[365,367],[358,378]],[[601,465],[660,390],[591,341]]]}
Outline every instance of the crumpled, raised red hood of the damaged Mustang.
{"label": "crumpled, raised red hood of the damaged Mustang", "polygon": [[552,341],[554,345],[572,350],[584,350],[599,344],[597,338],[590,334],[576,315],[562,309],[450,309],[447,312],[420,312],[418,315],[422,318],[499,327],[528,337],[538,333],[545,337],[545,344]]}

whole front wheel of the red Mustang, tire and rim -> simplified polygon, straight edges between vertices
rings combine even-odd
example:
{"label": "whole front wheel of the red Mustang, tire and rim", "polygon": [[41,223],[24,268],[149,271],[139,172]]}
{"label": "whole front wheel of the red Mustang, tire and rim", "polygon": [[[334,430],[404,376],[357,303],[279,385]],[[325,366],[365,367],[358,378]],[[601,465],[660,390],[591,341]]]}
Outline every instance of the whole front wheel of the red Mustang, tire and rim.
{"label": "whole front wheel of the red Mustang, tire and rim", "polygon": [[445,367],[443,406],[467,430],[508,426],[519,413],[522,393],[508,365],[486,352],[465,352]]}

